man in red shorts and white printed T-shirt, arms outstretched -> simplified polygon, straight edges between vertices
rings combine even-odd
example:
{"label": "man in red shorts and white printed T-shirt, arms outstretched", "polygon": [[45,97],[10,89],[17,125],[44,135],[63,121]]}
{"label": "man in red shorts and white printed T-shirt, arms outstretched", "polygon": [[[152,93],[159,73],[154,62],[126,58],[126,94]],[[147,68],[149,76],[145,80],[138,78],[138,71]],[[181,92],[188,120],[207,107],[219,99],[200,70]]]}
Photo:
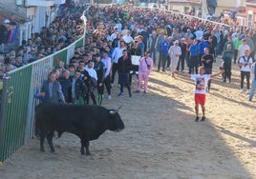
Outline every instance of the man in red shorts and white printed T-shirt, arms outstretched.
{"label": "man in red shorts and white printed T-shirt, arms outstretched", "polygon": [[190,77],[192,80],[195,81],[196,122],[199,121],[199,106],[201,106],[202,113],[203,113],[201,121],[204,121],[205,120],[205,107],[204,107],[205,94],[206,94],[208,80],[214,76],[218,76],[224,73],[224,70],[221,70],[220,72],[217,72],[214,74],[205,74],[204,68],[200,67],[199,74],[187,74],[187,73],[181,73],[179,71],[176,71],[176,73],[180,74],[181,76]]}

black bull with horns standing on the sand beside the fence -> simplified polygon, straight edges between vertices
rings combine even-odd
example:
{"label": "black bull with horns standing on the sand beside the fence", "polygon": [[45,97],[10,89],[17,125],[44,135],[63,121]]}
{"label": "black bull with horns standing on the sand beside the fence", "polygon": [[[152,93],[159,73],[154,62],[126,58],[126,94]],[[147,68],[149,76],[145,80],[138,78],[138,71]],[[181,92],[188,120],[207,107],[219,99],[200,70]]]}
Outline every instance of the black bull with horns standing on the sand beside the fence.
{"label": "black bull with horns standing on the sand beside the fence", "polygon": [[40,139],[40,150],[45,151],[45,137],[51,151],[53,133],[70,132],[81,140],[81,153],[90,155],[89,141],[97,139],[104,131],[120,131],[124,124],[115,109],[97,106],[40,104],[35,108],[35,135]]}

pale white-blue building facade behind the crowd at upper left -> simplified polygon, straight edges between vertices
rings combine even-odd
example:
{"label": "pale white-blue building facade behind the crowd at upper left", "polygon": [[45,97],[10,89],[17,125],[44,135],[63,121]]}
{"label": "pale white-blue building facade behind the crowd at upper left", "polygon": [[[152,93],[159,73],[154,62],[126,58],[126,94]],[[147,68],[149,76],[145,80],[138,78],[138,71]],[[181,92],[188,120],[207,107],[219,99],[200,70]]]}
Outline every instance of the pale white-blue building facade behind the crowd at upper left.
{"label": "pale white-blue building facade behind the crowd at upper left", "polygon": [[19,27],[18,45],[31,38],[32,33],[48,27],[55,18],[56,10],[65,0],[1,0],[0,22],[10,19]]}

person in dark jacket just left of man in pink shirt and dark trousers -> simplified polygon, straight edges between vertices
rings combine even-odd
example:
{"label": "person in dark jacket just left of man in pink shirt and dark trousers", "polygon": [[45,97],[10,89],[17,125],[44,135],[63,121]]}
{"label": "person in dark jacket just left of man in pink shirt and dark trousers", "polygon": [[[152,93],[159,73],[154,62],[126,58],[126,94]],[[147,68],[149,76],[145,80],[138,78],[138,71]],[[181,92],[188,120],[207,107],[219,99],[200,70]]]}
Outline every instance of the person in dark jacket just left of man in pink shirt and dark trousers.
{"label": "person in dark jacket just left of man in pink shirt and dark trousers", "polygon": [[102,103],[102,95],[104,91],[104,78],[105,78],[105,65],[103,62],[100,61],[100,55],[97,53],[95,55],[95,66],[94,69],[96,70],[97,75],[97,104],[101,106]]}

